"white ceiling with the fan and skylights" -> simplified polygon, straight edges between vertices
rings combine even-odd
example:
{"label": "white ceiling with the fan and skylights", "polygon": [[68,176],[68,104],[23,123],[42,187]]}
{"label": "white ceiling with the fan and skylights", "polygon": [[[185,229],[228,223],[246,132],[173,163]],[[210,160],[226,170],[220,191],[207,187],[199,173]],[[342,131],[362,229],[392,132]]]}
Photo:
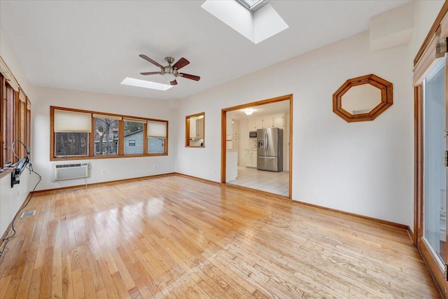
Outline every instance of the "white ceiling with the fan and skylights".
{"label": "white ceiling with the fan and skylights", "polygon": [[[32,85],[182,99],[363,32],[370,17],[408,1],[270,0],[289,28],[257,45],[203,2],[1,0],[0,26]],[[159,70],[140,54],[163,65],[166,56],[186,57],[181,71],[201,80],[178,78],[167,91],[120,85],[125,77],[166,83],[139,74]]]}

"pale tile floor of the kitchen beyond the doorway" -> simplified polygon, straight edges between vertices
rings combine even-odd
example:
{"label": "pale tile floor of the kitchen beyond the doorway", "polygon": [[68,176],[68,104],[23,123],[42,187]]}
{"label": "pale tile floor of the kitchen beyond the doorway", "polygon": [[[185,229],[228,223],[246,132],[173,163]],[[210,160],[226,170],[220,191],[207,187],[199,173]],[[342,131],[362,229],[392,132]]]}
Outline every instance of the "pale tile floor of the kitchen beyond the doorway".
{"label": "pale tile floor of the kitchen beyond the doorway", "polygon": [[289,172],[264,172],[256,168],[238,166],[238,176],[226,183],[283,196],[289,195]]}

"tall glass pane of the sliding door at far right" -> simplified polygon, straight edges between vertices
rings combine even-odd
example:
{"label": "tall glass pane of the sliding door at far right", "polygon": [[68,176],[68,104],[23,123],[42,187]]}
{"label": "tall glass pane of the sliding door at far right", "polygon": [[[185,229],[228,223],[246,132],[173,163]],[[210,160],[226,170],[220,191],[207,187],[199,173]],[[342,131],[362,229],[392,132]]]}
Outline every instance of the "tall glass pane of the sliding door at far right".
{"label": "tall glass pane of the sliding door at far right", "polygon": [[436,264],[447,260],[447,102],[445,58],[423,81],[423,239]]}

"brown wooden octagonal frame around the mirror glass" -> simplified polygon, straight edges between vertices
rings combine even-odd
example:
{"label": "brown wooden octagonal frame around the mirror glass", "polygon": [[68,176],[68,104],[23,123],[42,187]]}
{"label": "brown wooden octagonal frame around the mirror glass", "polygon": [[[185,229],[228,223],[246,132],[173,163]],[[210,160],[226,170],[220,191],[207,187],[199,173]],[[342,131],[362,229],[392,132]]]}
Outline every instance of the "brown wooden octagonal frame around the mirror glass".
{"label": "brown wooden octagonal frame around the mirror glass", "polygon": [[[381,102],[377,106],[374,106],[372,110],[367,113],[352,114],[342,108],[342,96],[350,90],[350,88],[370,84],[381,91]],[[333,112],[339,117],[344,119],[347,123],[352,123],[356,121],[368,121],[374,120],[381,113],[386,111],[388,107],[393,104],[393,90],[392,83],[370,74],[367,76],[361,76],[357,78],[352,78],[345,81],[344,84],[333,94]]]}

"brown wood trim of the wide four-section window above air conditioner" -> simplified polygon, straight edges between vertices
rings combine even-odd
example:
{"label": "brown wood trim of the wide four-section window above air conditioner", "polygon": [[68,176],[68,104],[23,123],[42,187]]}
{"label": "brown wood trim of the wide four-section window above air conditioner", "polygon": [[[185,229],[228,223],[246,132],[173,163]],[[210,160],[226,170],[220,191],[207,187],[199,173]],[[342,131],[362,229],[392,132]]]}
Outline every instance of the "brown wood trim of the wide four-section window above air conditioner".
{"label": "brown wood trim of the wide four-section window above air conditioner", "polygon": [[[100,114],[107,118],[107,116],[111,117],[119,117],[122,118],[122,120],[119,120],[118,125],[118,155],[94,155],[94,134],[89,134],[89,151],[88,155],[76,155],[76,156],[69,156],[66,158],[62,157],[56,157],[55,156],[55,132],[54,132],[54,118],[55,118],[55,110],[63,110],[63,111],[71,111],[71,112],[80,112],[80,113],[92,113],[92,114]],[[167,125],[167,137],[165,137],[165,144],[164,144],[164,153],[148,153],[148,145],[147,145],[147,138],[146,132],[147,132],[147,123],[144,124],[144,153],[143,154],[124,154],[124,136],[125,136],[125,130],[124,130],[124,118],[133,118],[136,120],[144,120],[146,122],[148,121],[155,121],[160,123],[166,123]],[[92,117],[92,130],[94,128],[94,117]],[[161,155],[168,155],[168,137],[169,137],[169,121],[168,120],[160,120],[155,118],[143,118],[138,116],[128,116],[124,114],[116,114],[116,113],[106,113],[106,112],[99,112],[99,111],[88,111],[83,109],[72,109],[67,107],[59,107],[59,106],[50,106],[50,161],[64,161],[64,160],[87,160],[87,159],[115,159],[115,158],[137,158],[137,157],[152,157],[152,156],[161,156]]]}

